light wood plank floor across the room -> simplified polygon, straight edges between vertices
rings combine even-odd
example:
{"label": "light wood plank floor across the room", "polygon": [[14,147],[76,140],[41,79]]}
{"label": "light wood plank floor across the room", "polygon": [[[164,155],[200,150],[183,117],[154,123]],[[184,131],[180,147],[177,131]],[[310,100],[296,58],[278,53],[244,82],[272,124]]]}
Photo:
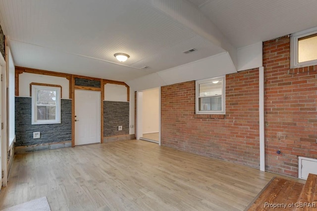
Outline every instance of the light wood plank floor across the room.
{"label": "light wood plank floor across the room", "polygon": [[128,140],[16,155],[0,210],[244,210],[276,174]]}

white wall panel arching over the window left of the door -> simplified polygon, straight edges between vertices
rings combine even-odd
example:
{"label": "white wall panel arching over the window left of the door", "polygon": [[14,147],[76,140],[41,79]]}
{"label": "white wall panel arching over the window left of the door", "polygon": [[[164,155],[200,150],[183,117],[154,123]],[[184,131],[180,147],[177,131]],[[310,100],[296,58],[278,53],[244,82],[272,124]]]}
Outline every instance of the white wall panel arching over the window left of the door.
{"label": "white wall panel arching over the window left of the door", "polygon": [[56,84],[61,85],[62,98],[69,99],[69,81],[64,77],[47,76],[34,73],[22,73],[19,75],[19,96],[30,97],[30,84]]}

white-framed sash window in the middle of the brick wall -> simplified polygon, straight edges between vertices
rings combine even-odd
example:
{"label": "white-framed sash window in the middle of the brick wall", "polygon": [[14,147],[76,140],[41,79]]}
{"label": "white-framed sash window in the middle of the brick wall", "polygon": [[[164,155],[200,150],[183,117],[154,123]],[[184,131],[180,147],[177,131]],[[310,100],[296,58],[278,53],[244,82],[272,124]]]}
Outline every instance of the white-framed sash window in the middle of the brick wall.
{"label": "white-framed sash window in the middle of the brick wall", "polygon": [[225,114],[225,77],[196,81],[196,114]]}

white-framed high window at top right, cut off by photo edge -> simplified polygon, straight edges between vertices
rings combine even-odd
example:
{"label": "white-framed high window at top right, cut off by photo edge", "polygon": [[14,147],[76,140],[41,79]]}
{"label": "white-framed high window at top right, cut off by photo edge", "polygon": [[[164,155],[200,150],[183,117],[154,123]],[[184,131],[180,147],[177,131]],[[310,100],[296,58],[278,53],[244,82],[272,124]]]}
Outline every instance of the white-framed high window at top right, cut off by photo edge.
{"label": "white-framed high window at top right, cut off by photo edge", "polygon": [[291,35],[291,68],[317,65],[317,27]]}

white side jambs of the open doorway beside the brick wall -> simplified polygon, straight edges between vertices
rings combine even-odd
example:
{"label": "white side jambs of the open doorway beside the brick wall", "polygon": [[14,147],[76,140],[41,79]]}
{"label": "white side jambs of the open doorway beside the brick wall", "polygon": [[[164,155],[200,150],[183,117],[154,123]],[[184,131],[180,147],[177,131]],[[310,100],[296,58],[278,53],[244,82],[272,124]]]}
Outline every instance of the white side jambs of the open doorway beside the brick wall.
{"label": "white side jambs of the open doorway beside the brick wall", "polygon": [[[160,98],[160,89],[159,86],[159,145],[160,145],[160,132],[161,132],[161,113],[160,113],[160,104],[161,104],[161,98]],[[143,136],[143,91],[137,91],[137,121],[136,121],[136,138],[140,140],[140,138]]]}

